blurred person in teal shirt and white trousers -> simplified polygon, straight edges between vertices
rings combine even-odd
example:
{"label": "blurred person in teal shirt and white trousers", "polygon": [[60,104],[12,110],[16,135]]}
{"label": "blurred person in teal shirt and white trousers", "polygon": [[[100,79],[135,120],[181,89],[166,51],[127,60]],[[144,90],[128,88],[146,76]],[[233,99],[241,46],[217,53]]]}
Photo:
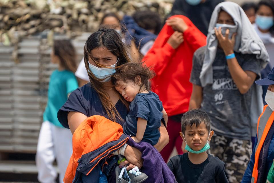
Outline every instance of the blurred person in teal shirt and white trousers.
{"label": "blurred person in teal shirt and white trousers", "polygon": [[68,95],[78,88],[76,51],[70,41],[54,41],[51,62],[58,64],[49,81],[48,101],[43,114],[36,153],[38,180],[41,183],[55,182],[57,172],[53,162],[57,160],[59,182],[63,182],[68,161],[72,154],[72,134],[57,119],[59,108],[67,101]]}

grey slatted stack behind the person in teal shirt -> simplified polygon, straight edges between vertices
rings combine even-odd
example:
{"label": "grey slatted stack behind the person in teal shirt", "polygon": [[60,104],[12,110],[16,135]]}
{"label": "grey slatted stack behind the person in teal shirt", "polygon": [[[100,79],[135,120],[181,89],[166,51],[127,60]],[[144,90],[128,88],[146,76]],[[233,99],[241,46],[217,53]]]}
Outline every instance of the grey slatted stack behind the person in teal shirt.
{"label": "grey slatted stack behind the person in teal shirt", "polygon": [[[83,33],[71,40],[78,63],[89,35]],[[57,69],[50,62],[52,47],[48,41],[37,35],[25,37],[13,47],[0,43],[0,152],[36,151],[49,77]]]}

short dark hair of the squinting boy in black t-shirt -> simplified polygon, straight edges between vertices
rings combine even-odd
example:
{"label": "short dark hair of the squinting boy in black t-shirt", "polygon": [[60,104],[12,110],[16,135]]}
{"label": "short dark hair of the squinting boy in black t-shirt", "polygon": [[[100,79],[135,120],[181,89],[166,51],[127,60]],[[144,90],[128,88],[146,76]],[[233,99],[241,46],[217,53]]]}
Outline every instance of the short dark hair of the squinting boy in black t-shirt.
{"label": "short dark hair of the squinting boy in black t-shirt", "polygon": [[186,131],[186,126],[196,125],[198,127],[200,124],[205,123],[208,133],[210,132],[210,118],[206,112],[200,109],[193,109],[184,113],[181,119],[182,133]]}

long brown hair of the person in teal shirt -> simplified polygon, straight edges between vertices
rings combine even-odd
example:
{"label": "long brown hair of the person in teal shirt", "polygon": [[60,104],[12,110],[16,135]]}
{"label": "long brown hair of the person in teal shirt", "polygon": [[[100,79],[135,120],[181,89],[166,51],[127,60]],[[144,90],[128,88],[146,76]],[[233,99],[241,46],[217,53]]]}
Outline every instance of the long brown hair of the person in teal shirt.
{"label": "long brown hair of the person in teal shirt", "polygon": [[66,70],[76,72],[76,51],[69,40],[55,40],[53,43],[54,55],[60,59],[60,64]]}

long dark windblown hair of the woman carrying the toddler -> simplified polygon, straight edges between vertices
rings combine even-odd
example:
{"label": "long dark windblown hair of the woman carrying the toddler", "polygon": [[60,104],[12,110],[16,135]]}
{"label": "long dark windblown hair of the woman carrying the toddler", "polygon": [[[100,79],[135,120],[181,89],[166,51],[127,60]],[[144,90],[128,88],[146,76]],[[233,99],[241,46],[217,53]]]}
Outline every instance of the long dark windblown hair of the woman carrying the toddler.
{"label": "long dark windblown hair of the woman carrying the toddler", "polygon": [[[104,65],[100,65],[96,62],[94,57],[91,55],[91,51],[96,48],[105,47],[108,49],[113,55],[119,58],[117,67],[131,62],[128,56],[128,50],[124,46],[124,43],[121,40],[120,35],[114,29],[108,29],[105,26],[100,26],[99,30],[92,33],[88,39],[86,40],[86,44],[84,46],[84,62],[87,71],[89,70],[88,57],[90,57],[97,65],[101,67],[106,67]],[[90,79],[90,83],[95,91],[98,93],[100,100],[102,102],[103,108],[106,110],[108,117],[110,120],[115,121],[117,118],[122,119],[119,112],[115,108],[114,104],[110,102],[110,98],[106,90],[104,89],[104,84],[101,82],[102,80],[97,79],[92,72],[88,72],[88,76]],[[128,107],[128,102],[119,94],[120,100]]]}

